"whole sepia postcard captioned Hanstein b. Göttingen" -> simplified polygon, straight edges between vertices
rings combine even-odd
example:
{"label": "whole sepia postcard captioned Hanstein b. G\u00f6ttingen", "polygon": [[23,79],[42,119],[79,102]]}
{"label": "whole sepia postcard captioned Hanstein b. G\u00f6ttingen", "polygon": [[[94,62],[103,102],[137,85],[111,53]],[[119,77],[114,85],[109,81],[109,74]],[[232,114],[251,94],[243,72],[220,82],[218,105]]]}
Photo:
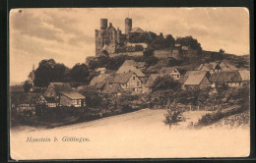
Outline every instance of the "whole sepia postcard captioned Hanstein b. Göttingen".
{"label": "whole sepia postcard captioned Hanstein b. G\u00f6ttingen", "polygon": [[250,155],[246,8],[9,13],[13,160]]}

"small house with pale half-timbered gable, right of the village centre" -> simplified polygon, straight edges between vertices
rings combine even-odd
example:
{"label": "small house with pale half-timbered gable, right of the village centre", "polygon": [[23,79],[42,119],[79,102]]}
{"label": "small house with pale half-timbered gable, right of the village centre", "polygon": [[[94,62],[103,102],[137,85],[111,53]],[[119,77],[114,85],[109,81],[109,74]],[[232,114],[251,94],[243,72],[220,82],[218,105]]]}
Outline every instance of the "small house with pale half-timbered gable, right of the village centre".
{"label": "small house with pale half-timbered gable, right of the village centre", "polygon": [[170,76],[173,80],[179,80],[184,71],[177,67],[167,67],[160,69],[160,76]]}

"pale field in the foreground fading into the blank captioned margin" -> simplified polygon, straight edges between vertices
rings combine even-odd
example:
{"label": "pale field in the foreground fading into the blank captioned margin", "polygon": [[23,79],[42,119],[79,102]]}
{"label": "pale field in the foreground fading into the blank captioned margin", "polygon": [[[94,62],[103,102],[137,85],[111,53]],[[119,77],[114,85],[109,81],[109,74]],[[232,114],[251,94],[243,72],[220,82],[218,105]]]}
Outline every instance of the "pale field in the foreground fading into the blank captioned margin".
{"label": "pale field in the foreground fading into the blank captioned margin", "polygon": [[[54,129],[19,126],[10,132],[13,159],[235,157],[250,151],[249,128],[189,129],[205,111],[184,113],[185,122],[164,125],[165,110],[140,111]],[[62,141],[63,136],[90,141]],[[28,137],[51,141],[27,142]],[[58,141],[53,141],[54,137]]]}

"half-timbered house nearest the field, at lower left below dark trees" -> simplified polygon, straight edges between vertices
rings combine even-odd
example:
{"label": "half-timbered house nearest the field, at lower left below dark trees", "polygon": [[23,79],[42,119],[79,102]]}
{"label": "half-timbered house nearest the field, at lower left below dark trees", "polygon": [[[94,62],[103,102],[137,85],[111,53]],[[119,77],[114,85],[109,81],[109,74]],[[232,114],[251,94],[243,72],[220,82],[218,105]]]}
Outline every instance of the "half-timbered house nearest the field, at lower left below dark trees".
{"label": "half-timbered house nearest the field, at lower left below dark trees", "polygon": [[86,106],[86,97],[78,93],[66,82],[50,82],[43,96],[48,107]]}

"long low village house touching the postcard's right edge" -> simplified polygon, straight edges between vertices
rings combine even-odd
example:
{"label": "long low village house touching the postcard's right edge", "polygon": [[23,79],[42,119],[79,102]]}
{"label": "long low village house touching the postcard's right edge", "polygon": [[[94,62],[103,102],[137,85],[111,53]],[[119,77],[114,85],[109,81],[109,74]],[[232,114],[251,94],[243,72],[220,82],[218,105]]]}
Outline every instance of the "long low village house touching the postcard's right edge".
{"label": "long low village house touching the postcard's right edge", "polygon": [[213,73],[209,79],[212,82],[213,87],[219,85],[227,85],[230,87],[241,86],[244,83],[249,83],[250,72],[249,71],[229,71],[229,72],[216,72]]}

